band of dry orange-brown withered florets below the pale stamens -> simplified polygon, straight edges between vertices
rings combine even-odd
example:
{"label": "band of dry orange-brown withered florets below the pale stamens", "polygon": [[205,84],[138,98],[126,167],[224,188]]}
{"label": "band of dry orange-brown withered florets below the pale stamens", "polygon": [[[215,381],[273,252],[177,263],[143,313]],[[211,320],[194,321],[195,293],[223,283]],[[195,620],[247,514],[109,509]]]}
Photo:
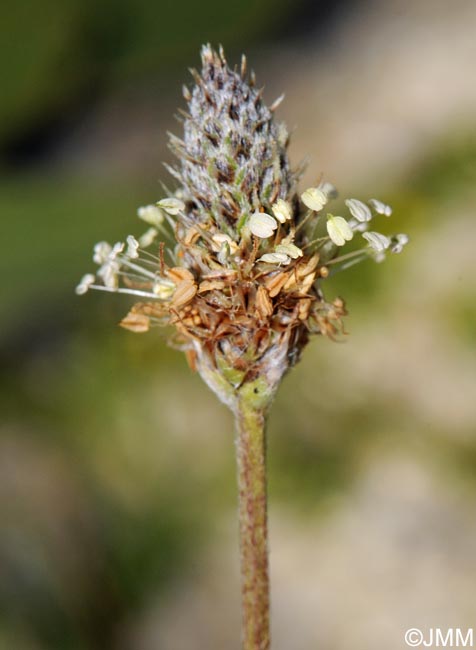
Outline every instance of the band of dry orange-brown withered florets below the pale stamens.
{"label": "band of dry orange-brown withered florets below the pale stamens", "polygon": [[175,326],[183,349],[199,346],[214,365],[225,356],[229,368],[250,380],[260,374],[260,359],[273,346],[286,341],[292,365],[310,333],[334,338],[343,331],[343,301],[326,303],[315,286],[318,261],[317,255],[304,256],[286,270],[255,264],[246,276],[199,269],[194,275],[173,267],[166,272],[176,283],[170,300],[134,305],[121,326],[143,332],[166,321]]}

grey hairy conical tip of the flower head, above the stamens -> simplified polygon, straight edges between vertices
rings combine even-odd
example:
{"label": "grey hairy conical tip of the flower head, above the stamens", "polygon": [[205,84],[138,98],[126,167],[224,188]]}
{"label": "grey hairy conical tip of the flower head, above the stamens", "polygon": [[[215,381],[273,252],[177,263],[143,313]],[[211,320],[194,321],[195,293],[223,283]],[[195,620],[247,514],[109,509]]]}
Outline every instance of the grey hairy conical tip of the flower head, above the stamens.
{"label": "grey hairy conical tip of the flower head, above the stamens", "polygon": [[194,73],[183,141],[170,142],[179,159],[174,175],[196,218],[232,226],[243,213],[286,199],[295,178],[260,91],[209,45],[202,66],[201,75]]}

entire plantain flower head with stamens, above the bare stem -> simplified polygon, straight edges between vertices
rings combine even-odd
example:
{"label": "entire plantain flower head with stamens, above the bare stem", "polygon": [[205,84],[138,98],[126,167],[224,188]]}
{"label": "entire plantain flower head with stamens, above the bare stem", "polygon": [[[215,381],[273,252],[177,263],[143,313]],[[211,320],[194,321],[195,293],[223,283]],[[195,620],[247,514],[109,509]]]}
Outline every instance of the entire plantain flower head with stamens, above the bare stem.
{"label": "entire plantain flower head with stamens, above the bare stem", "polygon": [[97,244],[98,280],[84,276],[77,293],[139,297],[123,327],[173,326],[191,366],[226,404],[234,408],[250,382],[268,403],[311,334],[342,331],[344,302],[328,302],[322,290],[329,269],[398,253],[408,238],[367,232],[366,245],[342,254],[372,210],[389,216],[391,208],[348,199],[349,221],[324,215],[335,187],[321,182],[298,197],[286,128],[248,77],[245,58],[232,70],[207,45],[201,72],[192,74],[183,136],[170,138],[176,194],[139,208],[152,227],[127,237],[127,246]]}

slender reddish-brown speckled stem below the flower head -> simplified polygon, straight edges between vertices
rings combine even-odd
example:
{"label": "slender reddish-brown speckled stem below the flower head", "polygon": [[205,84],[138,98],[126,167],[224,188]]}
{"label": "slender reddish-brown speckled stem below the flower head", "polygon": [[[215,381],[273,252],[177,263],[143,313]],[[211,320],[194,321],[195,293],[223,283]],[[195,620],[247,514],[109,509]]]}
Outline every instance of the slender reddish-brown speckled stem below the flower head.
{"label": "slender reddish-brown speckled stem below the flower head", "polygon": [[257,408],[242,396],[235,416],[242,648],[268,650],[270,634],[265,415],[262,408]]}

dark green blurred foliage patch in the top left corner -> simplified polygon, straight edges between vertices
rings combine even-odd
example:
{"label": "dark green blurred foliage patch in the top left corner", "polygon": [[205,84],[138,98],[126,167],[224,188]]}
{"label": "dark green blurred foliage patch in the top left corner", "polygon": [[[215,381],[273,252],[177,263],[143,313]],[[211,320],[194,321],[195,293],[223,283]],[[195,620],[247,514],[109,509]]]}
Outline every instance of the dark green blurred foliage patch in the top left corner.
{"label": "dark green blurred foliage patch in the top left corner", "polygon": [[[296,3],[299,5],[299,3]],[[5,5],[0,21],[0,144],[74,119],[106,89],[177,74],[206,41],[230,50],[281,29],[287,0],[223,3],[45,0]]]}

